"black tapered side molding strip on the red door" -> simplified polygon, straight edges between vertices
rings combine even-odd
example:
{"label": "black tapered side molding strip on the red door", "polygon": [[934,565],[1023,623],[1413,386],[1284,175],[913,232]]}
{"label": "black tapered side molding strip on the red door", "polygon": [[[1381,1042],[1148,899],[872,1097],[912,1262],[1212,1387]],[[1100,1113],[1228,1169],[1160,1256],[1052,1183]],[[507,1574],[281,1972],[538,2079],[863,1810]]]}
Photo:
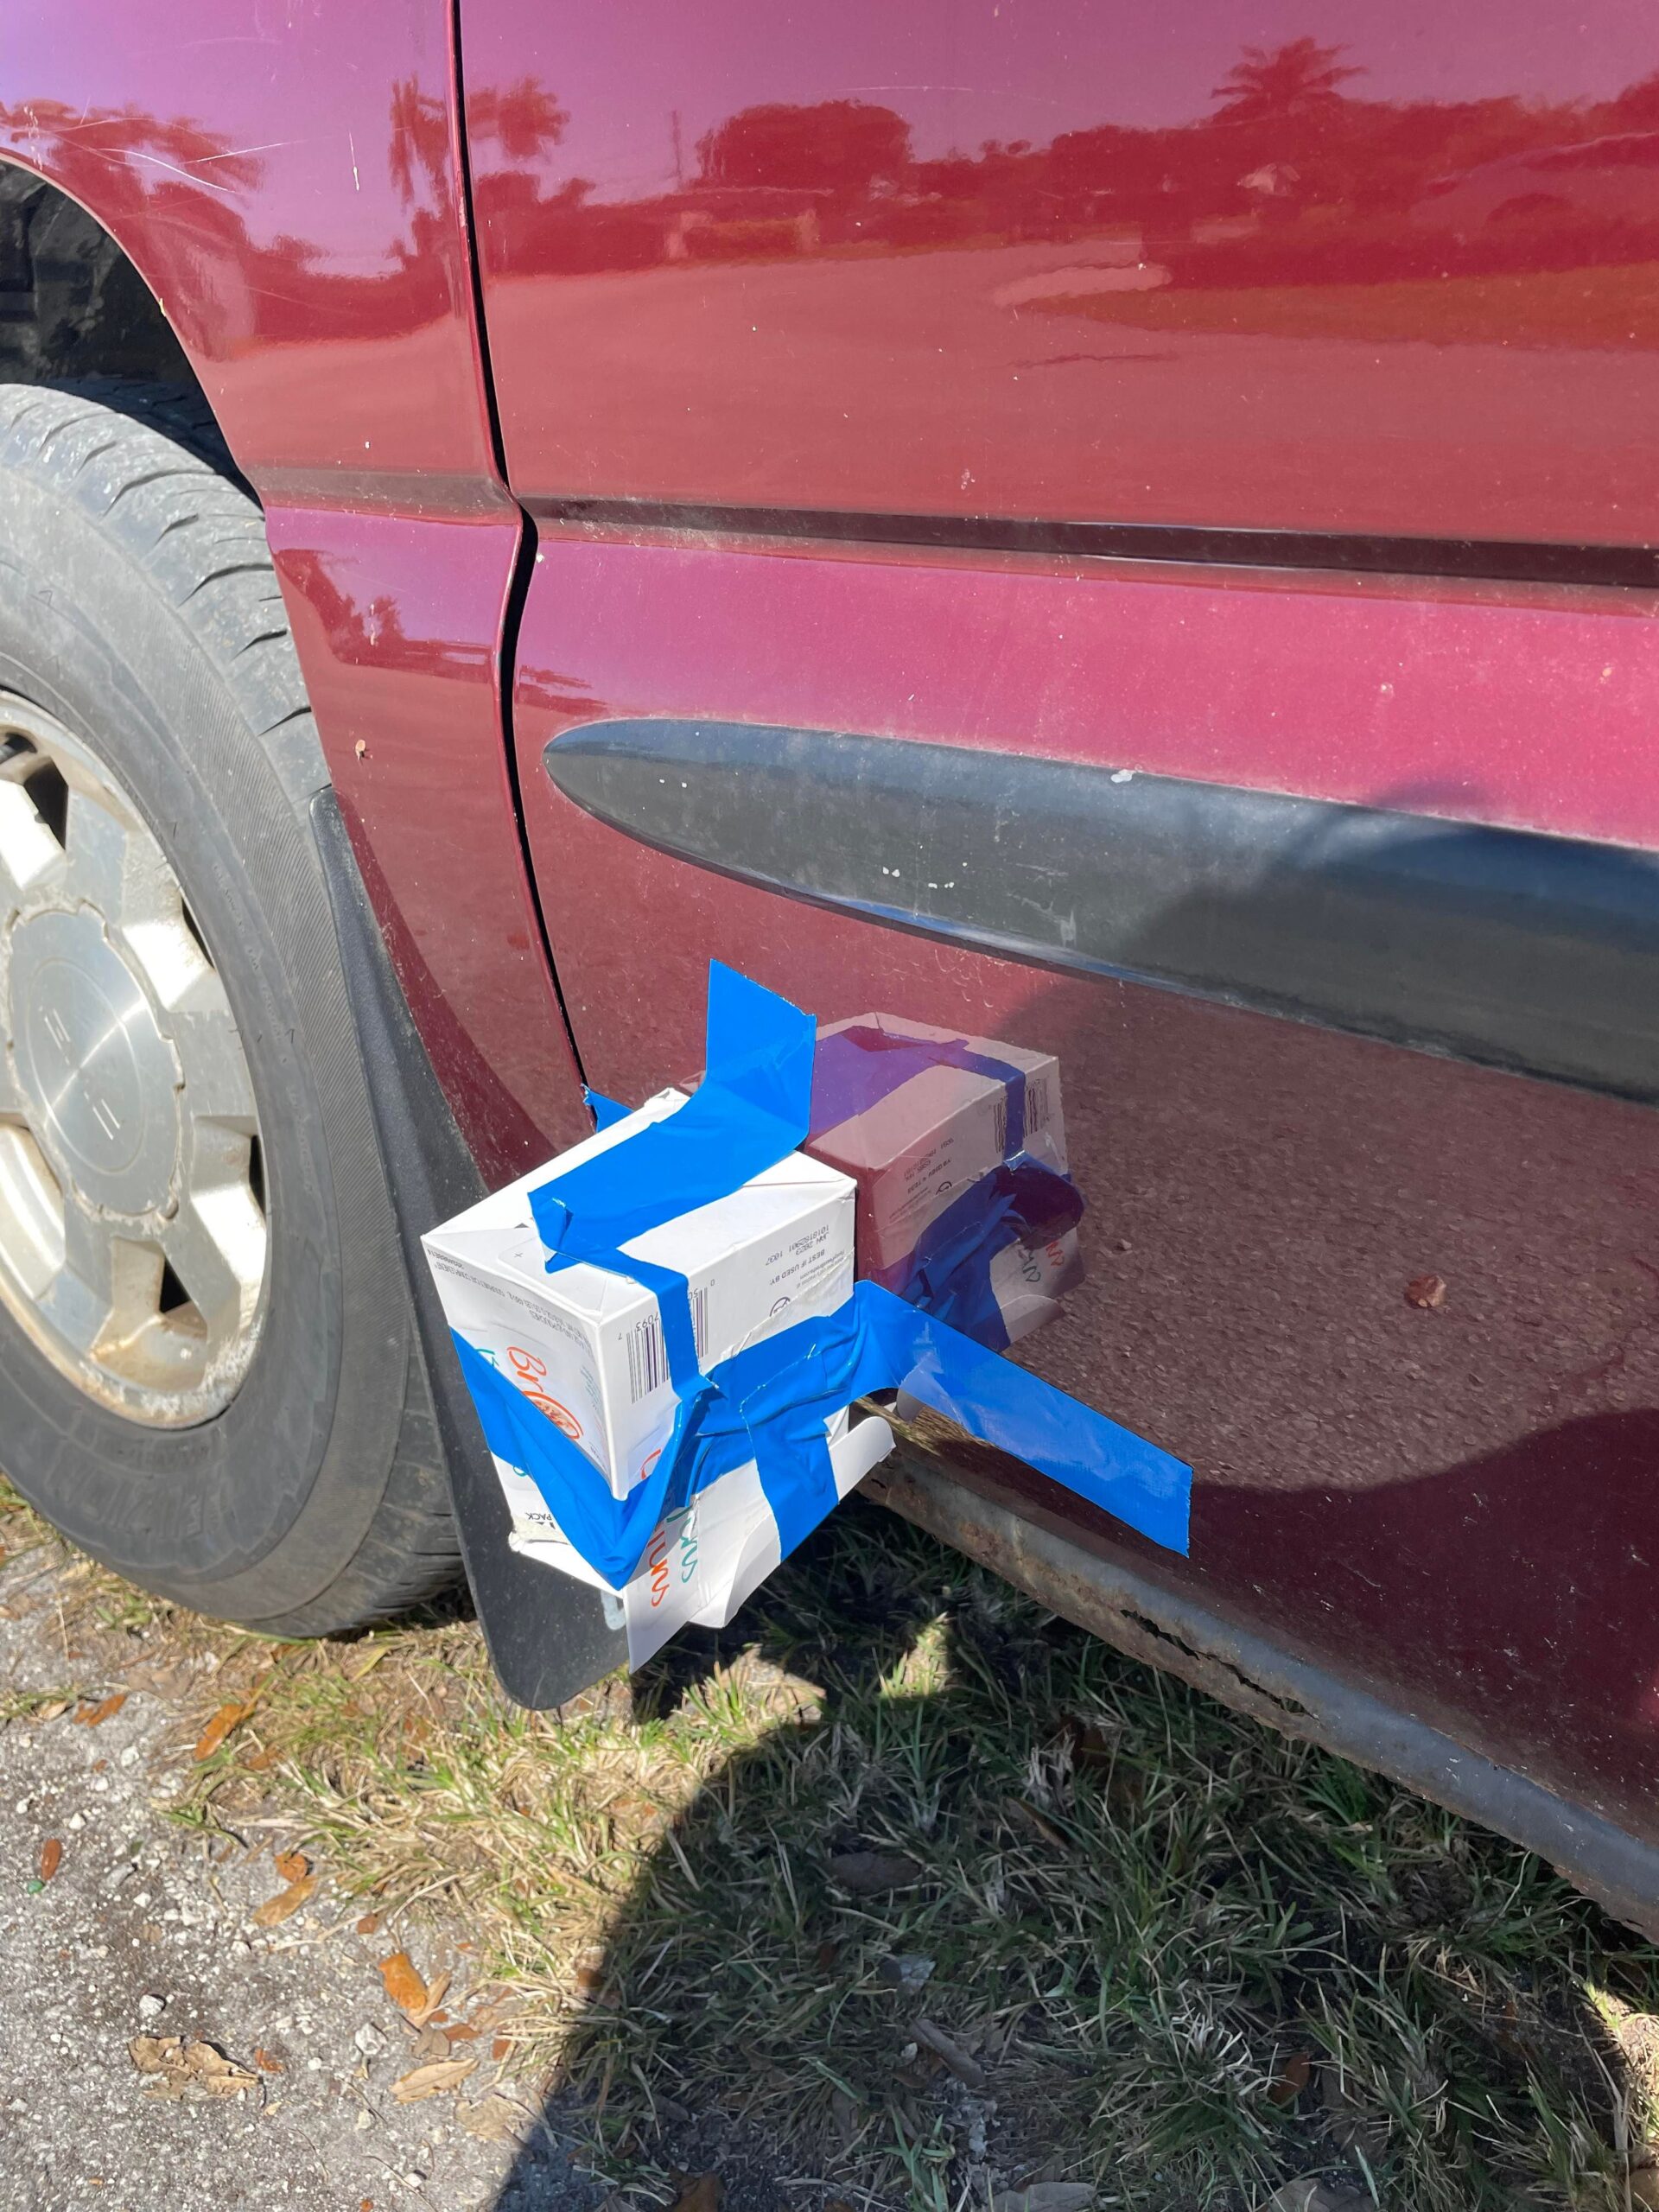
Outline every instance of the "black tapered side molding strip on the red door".
{"label": "black tapered side molding strip on the red door", "polygon": [[544,763],[785,896],[1659,1102],[1659,856],[836,730],[599,721]]}

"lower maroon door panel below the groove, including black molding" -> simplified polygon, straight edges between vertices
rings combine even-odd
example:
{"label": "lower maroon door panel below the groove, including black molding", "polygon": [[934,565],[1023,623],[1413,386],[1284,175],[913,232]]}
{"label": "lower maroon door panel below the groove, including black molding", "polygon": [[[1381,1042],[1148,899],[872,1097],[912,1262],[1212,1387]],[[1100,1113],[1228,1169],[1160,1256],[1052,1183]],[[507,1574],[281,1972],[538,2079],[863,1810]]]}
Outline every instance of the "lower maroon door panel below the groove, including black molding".
{"label": "lower maroon door panel below the groove, including black molding", "polygon": [[[1181,595],[1164,637],[1155,608]],[[1376,617],[1374,661],[1323,650],[1356,611]],[[1248,617],[1256,657],[1234,650]],[[1562,703],[1579,701],[1582,761],[1606,768],[1599,790],[1562,781],[1544,827],[1637,823],[1644,774],[1617,737],[1617,686],[1584,666],[1593,635],[1628,626],[1595,624],[1582,599],[1367,597],[1338,580],[1248,588],[1088,564],[927,568],[544,529],[515,734],[564,1000],[597,1088],[633,1102],[697,1068],[710,958],[825,1022],[880,1011],[1055,1053],[1088,1276],[1015,1356],[1192,1464],[1192,1555],[1155,1553],[1060,1491],[1046,1509],[1155,1582],[1646,1823],[1659,1254],[1644,1221],[1659,1155],[1648,1108],[1606,1093],[1650,1095],[1650,1077],[1579,1064],[1573,1082],[1542,1082],[1473,1060],[1544,1060],[1559,1048],[1551,1000],[1566,1013],[1599,958],[1646,960],[1650,863],[1628,852],[1619,891],[1597,874],[1588,896],[1573,867],[1595,854],[1500,836],[1511,863],[1548,852],[1542,872],[1493,880],[1491,825],[1447,816],[1502,816],[1506,803],[1473,774],[1473,745],[1467,772],[1449,772],[1458,701],[1436,719],[1427,688],[1411,692],[1418,670],[1471,664],[1502,717],[1555,681]],[[1208,701],[1203,714],[1175,712],[1155,681],[1181,637],[1194,666],[1177,697]],[[1367,750],[1356,710],[1389,681],[1383,666],[1413,710],[1385,708],[1402,734]],[[732,726],[748,750],[730,737],[721,750]],[[1217,825],[1214,783],[1199,781],[1243,761],[1256,728],[1270,732],[1256,759],[1274,781],[1296,761],[1303,799],[1290,814],[1237,785],[1223,799],[1287,827],[1276,856],[1259,836],[1228,847],[1237,816],[1221,805]],[[825,794],[836,743],[874,743],[889,761],[878,783],[865,763],[854,807]],[[891,754],[918,774],[907,781]],[[940,754],[962,774],[933,790]],[[606,785],[619,757],[633,781]],[[1110,814],[1117,794],[1126,821],[1146,821],[1148,770],[1150,843]],[[1099,779],[1093,812],[1068,785],[1073,818],[1060,818],[1055,774]],[[1356,823],[1376,834],[1380,816],[1318,794],[1314,821],[1329,821],[1310,830],[1296,810],[1321,783],[1389,807],[1385,858],[1371,852],[1358,885],[1340,838]],[[1416,807],[1402,803],[1413,792]],[[1440,816],[1429,794],[1447,794]],[[1159,827],[1170,805],[1175,838]],[[929,883],[998,852],[1009,874],[982,898],[958,883],[940,911]],[[1628,898],[1610,927],[1606,896]],[[1506,945],[1462,995],[1458,1020],[1482,1033],[1411,1029],[1436,984],[1436,911],[1458,942]],[[1566,931],[1553,982],[1551,929]],[[1374,993],[1358,1011],[1332,1000],[1356,973]],[[1520,1026],[1500,1037],[1491,1024],[1509,1020]],[[1586,1020],[1586,1037],[1608,1026]]]}

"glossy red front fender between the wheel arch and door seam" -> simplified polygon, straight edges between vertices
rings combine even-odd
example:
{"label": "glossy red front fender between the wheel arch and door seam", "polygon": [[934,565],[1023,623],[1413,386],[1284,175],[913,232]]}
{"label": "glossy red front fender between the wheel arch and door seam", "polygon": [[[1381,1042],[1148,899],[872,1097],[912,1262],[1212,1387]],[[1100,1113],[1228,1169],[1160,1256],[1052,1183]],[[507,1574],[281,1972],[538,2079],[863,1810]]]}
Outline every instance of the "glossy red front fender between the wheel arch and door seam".
{"label": "glossy red front fender between the wheel arch and door seam", "polygon": [[0,155],[126,248],[265,504],[376,911],[504,1177],[575,1135],[582,1097],[507,787],[495,657],[522,522],[491,447],[451,84],[442,0],[179,0],[166,38],[71,0],[7,22]]}

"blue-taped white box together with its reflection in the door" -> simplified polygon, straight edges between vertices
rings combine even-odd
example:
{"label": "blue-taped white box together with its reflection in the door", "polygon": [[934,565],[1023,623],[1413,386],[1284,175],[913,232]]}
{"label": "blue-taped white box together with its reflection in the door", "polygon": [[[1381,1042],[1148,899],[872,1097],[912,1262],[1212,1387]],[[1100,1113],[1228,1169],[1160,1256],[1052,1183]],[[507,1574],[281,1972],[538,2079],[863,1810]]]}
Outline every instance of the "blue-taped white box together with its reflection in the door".
{"label": "blue-taped white box together with its reflection in the door", "polygon": [[1188,1548],[1192,1471],[1000,1356],[1079,1274],[1051,1055],[818,1031],[712,962],[695,1095],[591,1104],[425,1250],[511,1544],[606,1593],[633,1666],[723,1626],[891,1449],[852,1418],[887,1391]]}

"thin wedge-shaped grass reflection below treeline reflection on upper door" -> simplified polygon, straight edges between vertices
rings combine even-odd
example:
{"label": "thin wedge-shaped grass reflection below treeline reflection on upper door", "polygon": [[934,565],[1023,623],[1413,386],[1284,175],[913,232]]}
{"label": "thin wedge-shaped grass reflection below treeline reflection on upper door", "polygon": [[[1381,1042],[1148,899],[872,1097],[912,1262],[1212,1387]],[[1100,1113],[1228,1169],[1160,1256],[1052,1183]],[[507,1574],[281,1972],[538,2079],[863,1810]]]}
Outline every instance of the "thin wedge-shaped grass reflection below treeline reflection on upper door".
{"label": "thin wedge-shaped grass reflection below treeline reflection on upper door", "polygon": [[1170,285],[1042,299],[1022,314],[1265,338],[1420,338],[1427,345],[1659,345],[1659,263],[1380,283]]}

